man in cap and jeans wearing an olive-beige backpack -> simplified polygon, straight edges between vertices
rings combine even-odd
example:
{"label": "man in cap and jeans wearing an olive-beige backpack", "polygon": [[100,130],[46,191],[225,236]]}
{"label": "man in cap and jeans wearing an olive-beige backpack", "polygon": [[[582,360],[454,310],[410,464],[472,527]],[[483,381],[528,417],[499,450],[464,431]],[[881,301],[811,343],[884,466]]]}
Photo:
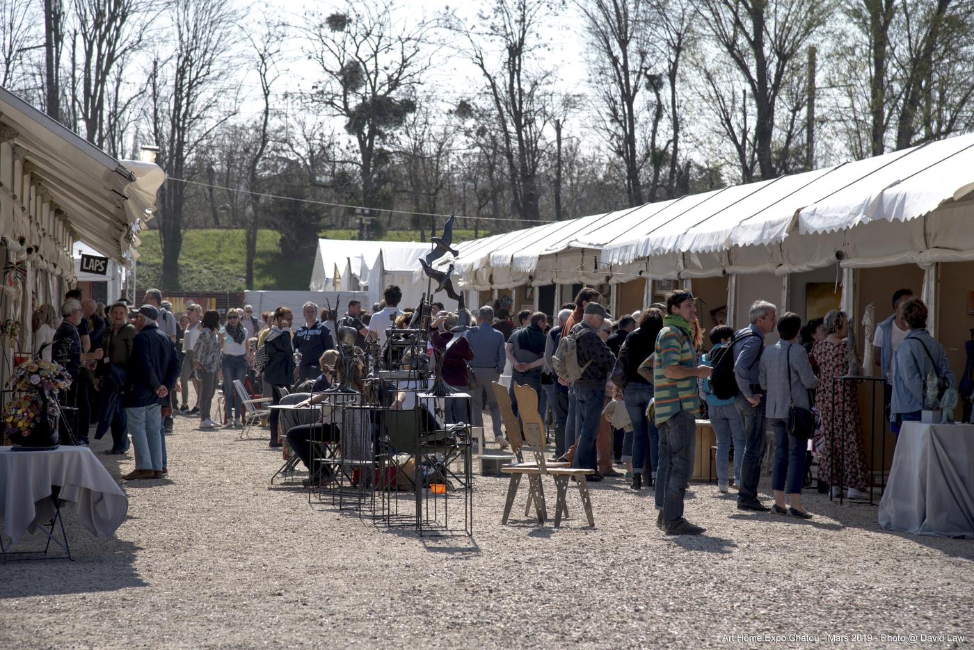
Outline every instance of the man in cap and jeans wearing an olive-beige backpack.
{"label": "man in cap and jeans wearing an olive-beige backpack", "polygon": [[[581,323],[572,328],[576,337],[581,379],[572,385],[579,418],[579,447],[573,467],[595,470],[589,481],[601,481],[595,455],[595,437],[605,403],[606,380],[616,365],[616,356],[599,337],[602,321],[608,316],[605,307],[591,302],[582,311]],[[587,365],[587,367],[586,367]]]}

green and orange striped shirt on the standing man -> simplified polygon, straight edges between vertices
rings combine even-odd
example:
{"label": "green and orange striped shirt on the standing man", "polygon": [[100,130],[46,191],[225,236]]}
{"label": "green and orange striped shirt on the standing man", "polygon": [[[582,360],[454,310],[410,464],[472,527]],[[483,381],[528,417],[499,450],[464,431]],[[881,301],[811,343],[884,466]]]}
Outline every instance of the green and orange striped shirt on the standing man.
{"label": "green and orange striped shirt on the standing man", "polygon": [[696,368],[690,336],[674,325],[667,325],[656,337],[656,365],[653,369],[656,426],[681,411],[689,411],[694,416],[700,412],[696,378],[670,379],[663,375],[663,369],[670,366]]}

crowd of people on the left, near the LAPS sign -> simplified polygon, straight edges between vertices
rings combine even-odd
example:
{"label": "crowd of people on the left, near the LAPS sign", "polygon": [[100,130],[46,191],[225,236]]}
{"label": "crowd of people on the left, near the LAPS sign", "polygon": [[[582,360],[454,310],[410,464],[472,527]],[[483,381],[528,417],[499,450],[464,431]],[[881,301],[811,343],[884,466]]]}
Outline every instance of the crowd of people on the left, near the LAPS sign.
{"label": "crowd of people on the left, near the LAPS sign", "polygon": [[[166,433],[174,414],[198,416],[201,429],[239,428],[242,393],[248,395],[261,383],[271,388],[269,394],[273,386],[290,387],[295,360],[298,379],[320,379],[318,359],[334,347],[334,326],[318,320],[314,304],[305,305],[304,313],[306,325],[292,341],[285,307],[258,317],[249,305],[221,315],[190,302],[185,311],[173,313],[158,289],[148,290],[137,308],[124,299],[108,307],[82,300],[76,289],[65,294],[59,308],[38,306],[32,319],[33,351],[64,366],[72,378],[61,397],[62,444],[88,445],[96,425],[96,439],[111,432],[112,446],[105,453],[126,454],[134,448],[135,469],[126,480],[165,478]],[[367,333],[368,316],[357,303],[349,305],[342,321],[357,324],[359,336]],[[260,346],[273,353],[258,374]],[[244,383],[239,391],[237,385]],[[213,402],[221,386],[224,407],[217,414]],[[279,445],[272,438],[272,446]]]}

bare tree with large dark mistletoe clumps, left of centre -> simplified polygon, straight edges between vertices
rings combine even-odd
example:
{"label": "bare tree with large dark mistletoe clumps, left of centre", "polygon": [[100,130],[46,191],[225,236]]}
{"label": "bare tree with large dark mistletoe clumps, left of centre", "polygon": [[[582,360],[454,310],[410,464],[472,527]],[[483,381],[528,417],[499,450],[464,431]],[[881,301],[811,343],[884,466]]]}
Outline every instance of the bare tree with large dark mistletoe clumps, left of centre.
{"label": "bare tree with large dark mistletoe clumps, left of centre", "polygon": [[393,2],[378,7],[350,5],[318,17],[306,29],[308,55],[322,78],[313,100],[332,116],[345,120],[345,130],[358,149],[359,201],[368,207],[389,202],[383,197],[387,143],[416,110],[416,88],[429,66],[424,50],[428,25],[400,26]]}

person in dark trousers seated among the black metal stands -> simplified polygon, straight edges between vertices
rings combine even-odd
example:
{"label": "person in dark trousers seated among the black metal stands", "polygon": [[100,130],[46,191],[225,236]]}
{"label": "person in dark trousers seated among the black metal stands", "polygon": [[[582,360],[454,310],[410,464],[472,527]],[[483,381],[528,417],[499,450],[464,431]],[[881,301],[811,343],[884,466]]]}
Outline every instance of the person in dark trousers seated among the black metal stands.
{"label": "person in dark trousers seated among the black metal stands", "polygon": [[[321,355],[322,377],[325,374],[323,371],[327,367],[326,362],[331,361],[330,357],[325,358],[327,354],[325,352]],[[356,363],[352,366],[352,383],[358,391],[361,391],[362,388],[361,370],[361,361],[356,359]],[[335,375],[336,380],[341,381],[342,369],[335,369]],[[340,442],[342,458],[350,460],[368,459],[372,450],[372,428],[368,411],[365,409],[343,409],[341,405],[335,404],[335,394],[316,393],[303,402],[299,402],[298,408],[310,408],[323,402],[321,416],[315,423],[294,426],[287,432],[287,443],[298,454],[305,466],[313,472],[312,476],[304,482],[305,487],[328,483],[332,480],[335,471],[336,463],[320,462],[320,456],[313,457],[313,440],[332,444]]]}

